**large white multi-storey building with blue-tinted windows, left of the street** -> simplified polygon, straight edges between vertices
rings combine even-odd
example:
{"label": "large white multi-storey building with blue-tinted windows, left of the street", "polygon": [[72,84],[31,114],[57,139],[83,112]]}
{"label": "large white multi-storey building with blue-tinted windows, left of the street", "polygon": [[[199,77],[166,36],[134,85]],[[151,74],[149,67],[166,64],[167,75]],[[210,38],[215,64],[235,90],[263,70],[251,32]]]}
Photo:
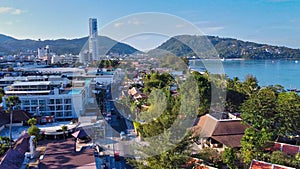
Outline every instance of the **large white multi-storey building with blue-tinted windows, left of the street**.
{"label": "large white multi-storey building with blue-tinted windows, left of the street", "polygon": [[52,81],[16,82],[5,88],[2,98],[6,109],[8,96],[18,96],[21,109],[41,116],[54,116],[56,120],[70,120],[84,113],[88,100],[89,82],[73,81],[70,88]]}

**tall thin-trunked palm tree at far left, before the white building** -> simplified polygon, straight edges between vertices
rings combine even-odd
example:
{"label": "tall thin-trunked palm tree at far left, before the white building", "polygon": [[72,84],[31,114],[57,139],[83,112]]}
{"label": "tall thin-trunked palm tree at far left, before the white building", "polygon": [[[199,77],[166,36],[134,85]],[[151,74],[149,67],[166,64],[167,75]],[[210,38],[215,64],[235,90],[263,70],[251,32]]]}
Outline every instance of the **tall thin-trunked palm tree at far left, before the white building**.
{"label": "tall thin-trunked palm tree at far left, before the white building", "polygon": [[10,148],[12,148],[12,131],[11,131],[11,126],[12,126],[12,121],[13,121],[13,110],[15,108],[19,107],[19,104],[21,103],[20,99],[18,96],[8,96],[6,100],[6,107],[8,113],[10,113],[10,125],[9,125],[9,139],[10,141]]}

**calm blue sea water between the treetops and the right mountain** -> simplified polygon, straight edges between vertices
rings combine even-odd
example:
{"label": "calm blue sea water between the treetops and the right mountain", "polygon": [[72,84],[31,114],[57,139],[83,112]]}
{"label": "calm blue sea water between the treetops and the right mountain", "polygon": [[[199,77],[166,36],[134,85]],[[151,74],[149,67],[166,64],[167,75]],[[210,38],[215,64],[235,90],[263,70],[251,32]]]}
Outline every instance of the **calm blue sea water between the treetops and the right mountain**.
{"label": "calm blue sea water between the treetops and the right mountain", "polygon": [[[225,60],[205,61],[209,72],[220,72],[220,64],[223,72],[230,78],[238,77],[244,80],[248,74],[254,75],[259,85],[267,86],[280,84],[285,89],[300,89],[300,61],[293,60]],[[218,64],[220,63],[220,64]],[[200,68],[201,61],[190,61],[191,67]]]}

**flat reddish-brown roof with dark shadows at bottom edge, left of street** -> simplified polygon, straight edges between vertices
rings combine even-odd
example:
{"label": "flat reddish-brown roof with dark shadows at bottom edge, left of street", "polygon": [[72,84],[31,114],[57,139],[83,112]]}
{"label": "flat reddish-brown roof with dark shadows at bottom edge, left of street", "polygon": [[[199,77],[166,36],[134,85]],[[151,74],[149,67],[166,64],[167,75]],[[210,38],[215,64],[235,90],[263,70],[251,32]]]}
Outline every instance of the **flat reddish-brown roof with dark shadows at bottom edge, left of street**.
{"label": "flat reddish-brown roof with dark shadows at bottom edge, left of street", "polygon": [[41,169],[76,168],[95,162],[93,149],[74,151],[73,139],[48,143]]}

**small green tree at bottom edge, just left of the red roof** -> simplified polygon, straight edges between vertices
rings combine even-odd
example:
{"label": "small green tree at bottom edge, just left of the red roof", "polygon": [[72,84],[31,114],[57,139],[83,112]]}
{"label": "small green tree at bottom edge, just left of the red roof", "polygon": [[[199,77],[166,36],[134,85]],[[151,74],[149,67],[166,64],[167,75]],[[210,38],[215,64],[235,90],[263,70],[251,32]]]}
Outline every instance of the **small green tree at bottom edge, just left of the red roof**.
{"label": "small green tree at bottom edge, just left of the red roof", "polygon": [[226,164],[230,169],[236,169],[237,167],[237,152],[233,148],[225,148],[222,154],[222,161]]}

